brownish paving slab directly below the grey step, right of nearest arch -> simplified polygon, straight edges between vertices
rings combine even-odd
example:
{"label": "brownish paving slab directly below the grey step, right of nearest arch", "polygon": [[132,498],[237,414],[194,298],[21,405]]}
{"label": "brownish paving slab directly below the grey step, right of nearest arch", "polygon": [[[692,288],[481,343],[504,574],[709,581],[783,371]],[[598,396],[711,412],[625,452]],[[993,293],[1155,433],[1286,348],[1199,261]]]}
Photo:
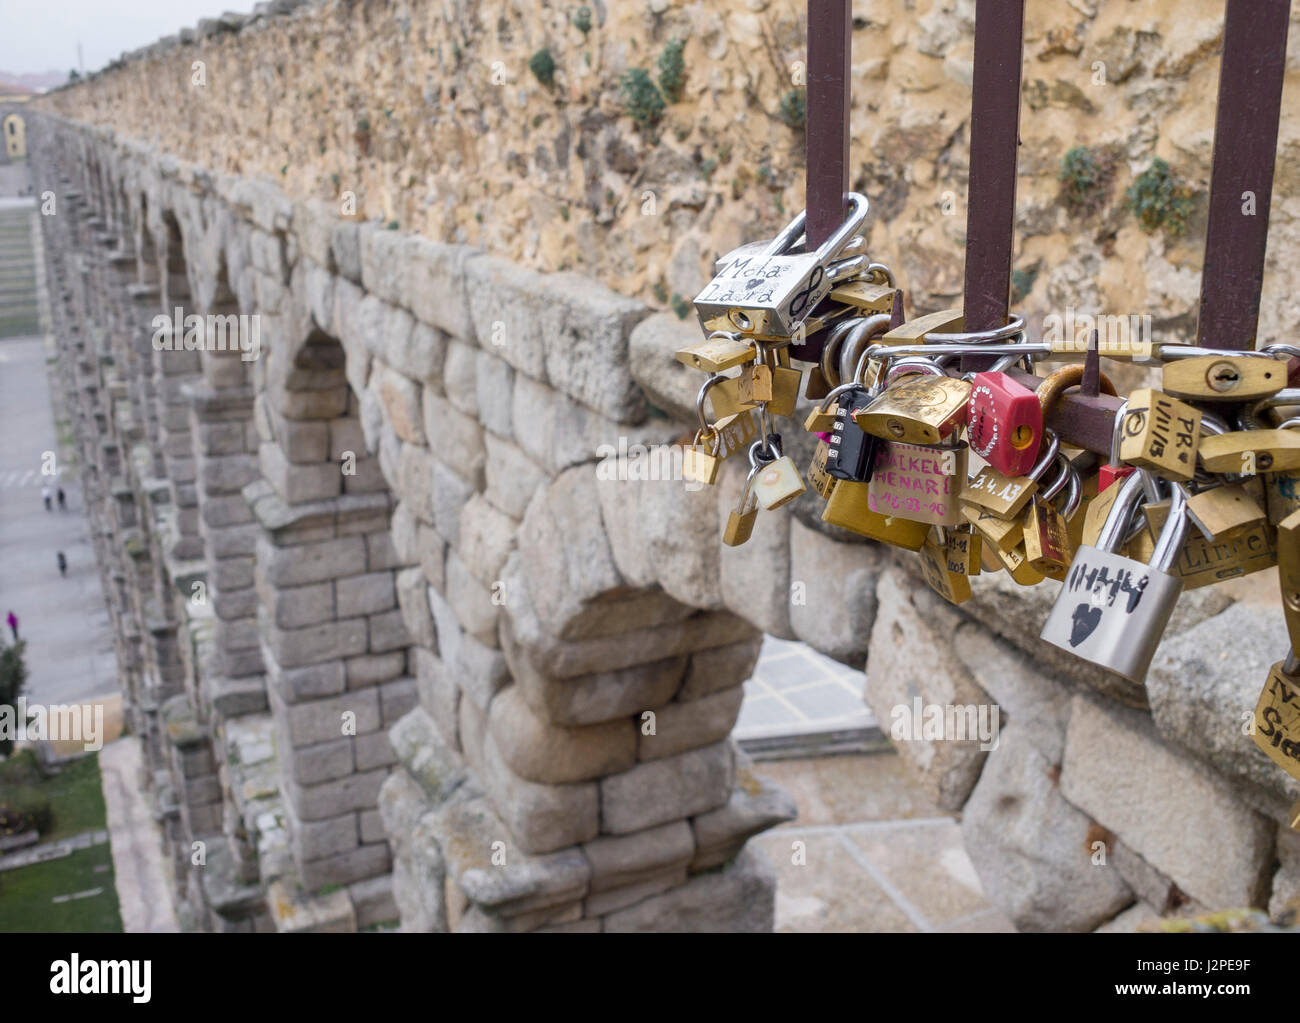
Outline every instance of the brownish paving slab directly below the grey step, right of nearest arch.
{"label": "brownish paving slab directly below the grey step, right of nearest arch", "polygon": [[800,816],[785,828],[944,815],[893,753],[764,760],[755,770],[794,797]]}

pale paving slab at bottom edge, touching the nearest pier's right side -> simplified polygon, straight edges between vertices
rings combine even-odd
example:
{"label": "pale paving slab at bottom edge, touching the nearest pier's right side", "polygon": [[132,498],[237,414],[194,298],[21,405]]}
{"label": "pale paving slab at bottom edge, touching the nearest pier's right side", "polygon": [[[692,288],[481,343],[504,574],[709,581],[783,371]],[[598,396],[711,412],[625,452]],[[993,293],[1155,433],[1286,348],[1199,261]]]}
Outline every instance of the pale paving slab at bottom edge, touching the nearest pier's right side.
{"label": "pale paving slab at bottom edge, touching the nearest pier's right side", "polygon": [[[757,844],[776,870],[776,931],[905,932],[916,926],[862,870],[835,832],[766,832]],[[796,863],[794,842],[803,842]]]}

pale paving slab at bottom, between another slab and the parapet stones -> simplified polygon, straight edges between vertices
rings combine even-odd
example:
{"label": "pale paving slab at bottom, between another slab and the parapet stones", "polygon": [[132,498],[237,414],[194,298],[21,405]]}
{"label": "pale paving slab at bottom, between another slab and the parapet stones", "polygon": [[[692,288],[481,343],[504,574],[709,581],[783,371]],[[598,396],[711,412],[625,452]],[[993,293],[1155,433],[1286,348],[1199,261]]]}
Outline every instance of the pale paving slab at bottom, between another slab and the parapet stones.
{"label": "pale paving slab at bottom, between another slab and the parapet stones", "polygon": [[883,885],[933,927],[992,909],[954,820],[889,822],[841,831],[879,871]]}

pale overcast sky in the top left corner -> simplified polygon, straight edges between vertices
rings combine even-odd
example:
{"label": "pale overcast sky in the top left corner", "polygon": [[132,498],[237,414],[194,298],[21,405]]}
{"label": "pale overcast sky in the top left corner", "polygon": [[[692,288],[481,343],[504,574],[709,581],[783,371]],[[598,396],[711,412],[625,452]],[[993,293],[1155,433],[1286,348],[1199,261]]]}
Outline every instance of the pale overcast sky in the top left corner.
{"label": "pale overcast sky in the top left corner", "polygon": [[92,71],[222,10],[252,10],[252,0],[0,0],[0,70],[66,73],[81,43]]}

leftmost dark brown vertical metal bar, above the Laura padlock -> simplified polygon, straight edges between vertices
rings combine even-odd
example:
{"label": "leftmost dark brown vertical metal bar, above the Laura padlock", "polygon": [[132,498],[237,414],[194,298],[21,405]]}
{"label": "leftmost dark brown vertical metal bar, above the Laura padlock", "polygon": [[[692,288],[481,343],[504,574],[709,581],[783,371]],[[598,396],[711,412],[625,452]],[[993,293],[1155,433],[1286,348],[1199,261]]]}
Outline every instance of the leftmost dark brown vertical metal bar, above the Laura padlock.
{"label": "leftmost dark brown vertical metal bar, above the Laura padlock", "polygon": [[844,222],[849,191],[849,73],[852,0],[809,0],[806,144],[807,247],[816,248]]}

